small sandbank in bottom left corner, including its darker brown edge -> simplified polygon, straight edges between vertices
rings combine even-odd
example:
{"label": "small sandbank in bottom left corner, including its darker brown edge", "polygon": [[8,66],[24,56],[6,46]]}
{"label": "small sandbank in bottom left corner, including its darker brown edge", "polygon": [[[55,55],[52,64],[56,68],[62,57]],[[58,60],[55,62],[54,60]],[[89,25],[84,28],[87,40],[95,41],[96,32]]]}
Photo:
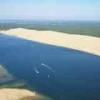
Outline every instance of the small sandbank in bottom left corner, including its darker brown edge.
{"label": "small sandbank in bottom left corner, including its darker brown edge", "polygon": [[25,89],[0,89],[0,100],[51,100]]}

